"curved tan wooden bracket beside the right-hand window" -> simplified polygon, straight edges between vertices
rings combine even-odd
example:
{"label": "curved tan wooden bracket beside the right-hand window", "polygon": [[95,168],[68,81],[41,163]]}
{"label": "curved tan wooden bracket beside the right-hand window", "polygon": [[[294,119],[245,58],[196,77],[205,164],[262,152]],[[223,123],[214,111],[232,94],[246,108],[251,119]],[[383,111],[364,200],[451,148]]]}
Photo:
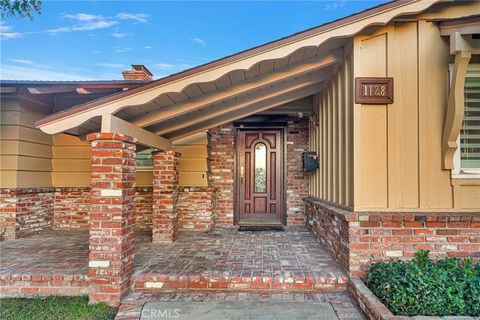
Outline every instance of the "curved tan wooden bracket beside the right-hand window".
{"label": "curved tan wooden bracket beside the right-hand window", "polygon": [[471,53],[460,51],[455,55],[452,83],[448,95],[447,115],[443,129],[442,156],[443,168],[453,169],[453,157],[457,151],[457,138],[462,129],[465,112],[465,75]]}

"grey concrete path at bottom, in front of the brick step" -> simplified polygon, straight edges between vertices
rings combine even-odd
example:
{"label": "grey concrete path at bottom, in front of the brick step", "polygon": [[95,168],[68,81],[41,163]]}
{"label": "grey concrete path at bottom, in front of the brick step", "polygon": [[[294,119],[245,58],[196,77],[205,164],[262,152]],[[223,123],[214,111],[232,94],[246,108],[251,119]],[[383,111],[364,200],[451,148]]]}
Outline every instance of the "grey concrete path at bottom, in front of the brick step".
{"label": "grey concrete path at bottom, in front of the brick step", "polygon": [[330,303],[148,302],[141,320],[338,320]]}

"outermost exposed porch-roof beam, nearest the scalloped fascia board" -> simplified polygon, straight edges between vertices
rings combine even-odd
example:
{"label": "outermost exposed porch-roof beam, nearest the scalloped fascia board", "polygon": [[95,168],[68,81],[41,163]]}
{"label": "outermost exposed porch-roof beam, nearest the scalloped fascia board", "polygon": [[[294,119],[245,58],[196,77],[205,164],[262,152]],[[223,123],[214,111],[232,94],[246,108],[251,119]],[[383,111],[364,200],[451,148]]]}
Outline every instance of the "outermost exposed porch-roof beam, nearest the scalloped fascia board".
{"label": "outermost exposed porch-roof beam, nearest the scalloped fascia board", "polygon": [[166,121],[187,112],[218,103],[219,101],[231,99],[242,93],[258,90],[261,87],[270,86],[288,78],[298,77],[319,68],[326,68],[340,62],[342,57],[342,49],[333,50],[330,53],[309,59],[301,64],[275,70],[274,72],[258,77],[255,80],[227,87],[225,90],[220,92],[214,92],[196,100],[162,108],[159,111],[151,112],[144,116],[133,119],[132,123],[140,127],[147,127],[157,122]]}

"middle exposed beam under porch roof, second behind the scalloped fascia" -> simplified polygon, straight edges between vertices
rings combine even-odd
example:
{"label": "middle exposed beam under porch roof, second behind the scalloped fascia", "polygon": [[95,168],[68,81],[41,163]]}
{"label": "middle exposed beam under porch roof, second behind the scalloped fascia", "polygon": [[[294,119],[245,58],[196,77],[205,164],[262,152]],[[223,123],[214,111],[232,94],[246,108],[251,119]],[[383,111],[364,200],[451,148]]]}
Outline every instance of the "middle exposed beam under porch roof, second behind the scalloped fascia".
{"label": "middle exposed beam under porch roof, second behind the scalloped fascia", "polygon": [[330,77],[328,73],[314,74],[299,77],[295,80],[286,81],[276,86],[270,87],[265,92],[257,93],[256,95],[246,96],[243,99],[232,99],[229,103],[219,104],[216,108],[202,110],[200,113],[189,114],[189,117],[181,117],[173,121],[172,123],[165,124],[160,130],[155,131],[156,134],[164,135],[173,131],[178,131],[186,127],[193,126],[199,122],[207,121],[212,118],[221,117],[224,114],[231,113],[233,111],[242,110],[250,107],[254,104],[265,102],[269,99],[276,98],[278,96],[288,95],[295,90],[301,90],[312,84],[325,81]]}

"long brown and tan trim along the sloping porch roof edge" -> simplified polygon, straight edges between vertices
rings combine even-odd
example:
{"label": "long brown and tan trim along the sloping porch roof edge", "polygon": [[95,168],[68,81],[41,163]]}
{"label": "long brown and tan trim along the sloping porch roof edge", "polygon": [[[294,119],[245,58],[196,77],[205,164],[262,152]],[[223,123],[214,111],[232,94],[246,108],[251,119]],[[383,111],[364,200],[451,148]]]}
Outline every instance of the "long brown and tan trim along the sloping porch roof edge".
{"label": "long brown and tan trim along the sloping porch roof edge", "polygon": [[150,88],[154,88],[154,87],[157,87],[157,86],[160,86],[160,85],[163,85],[163,84],[166,84],[166,83],[169,83],[169,82],[181,79],[181,78],[185,78],[185,77],[200,73],[202,71],[213,69],[213,68],[215,68],[219,65],[223,65],[223,64],[227,64],[227,63],[230,63],[230,62],[233,62],[233,61],[236,61],[236,60],[240,60],[240,59],[242,59],[244,57],[247,57],[247,56],[253,56],[253,55],[271,50],[271,49],[276,48],[278,46],[281,46],[283,44],[286,44],[286,43],[289,43],[289,42],[294,42],[294,41],[297,41],[297,40],[302,39],[302,38],[307,38],[307,37],[313,36],[317,33],[339,27],[341,25],[344,25],[344,24],[347,24],[347,23],[350,23],[350,22],[368,17],[370,15],[374,15],[374,14],[377,14],[379,12],[382,12],[382,11],[385,11],[385,10],[388,10],[388,9],[391,9],[391,8],[395,8],[395,7],[404,5],[404,4],[408,4],[408,3],[411,3],[411,2],[416,2],[416,1],[418,1],[418,0],[394,0],[394,1],[390,1],[390,2],[387,2],[387,3],[381,4],[381,5],[375,6],[373,8],[370,8],[370,9],[352,14],[350,16],[347,16],[347,17],[344,17],[344,18],[341,18],[341,19],[337,19],[337,20],[319,25],[317,27],[313,27],[313,28],[307,29],[305,31],[295,33],[291,36],[287,36],[287,37],[284,37],[284,38],[281,38],[281,39],[278,39],[278,40],[275,40],[275,41],[272,41],[272,42],[268,42],[266,44],[263,44],[263,45],[245,50],[245,51],[240,51],[236,54],[226,56],[226,57],[218,59],[218,60],[211,61],[209,63],[200,65],[198,67],[187,69],[185,71],[167,76],[167,77],[162,78],[162,79],[158,79],[154,82],[145,84],[145,85],[140,86],[140,87],[137,87],[137,88],[134,88],[134,89],[131,89],[131,90],[128,90],[128,91],[120,92],[120,93],[117,93],[117,94],[114,94],[114,95],[111,95],[111,96],[108,96],[108,97],[104,97],[104,98],[101,98],[101,99],[97,99],[97,100],[94,100],[94,101],[91,101],[91,102],[87,102],[87,103],[84,103],[84,104],[80,104],[80,105],[74,106],[72,108],[54,113],[50,116],[47,116],[45,118],[42,118],[40,120],[35,121],[35,126],[38,127],[38,126],[44,125],[46,123],[49,123],[51,121],[55,121],[57,119],[70,116],[70,115],[75,114],[77,112],[85,111],[85,110],[94,108],[96,106],[115,101],[119,98],[123,98],[123,97],[127,97],[129,95],[132,95],[132,94],[139,93],[143,90],[148,90]]}

